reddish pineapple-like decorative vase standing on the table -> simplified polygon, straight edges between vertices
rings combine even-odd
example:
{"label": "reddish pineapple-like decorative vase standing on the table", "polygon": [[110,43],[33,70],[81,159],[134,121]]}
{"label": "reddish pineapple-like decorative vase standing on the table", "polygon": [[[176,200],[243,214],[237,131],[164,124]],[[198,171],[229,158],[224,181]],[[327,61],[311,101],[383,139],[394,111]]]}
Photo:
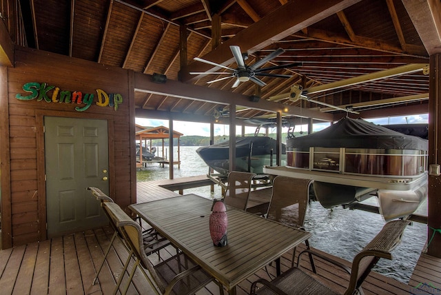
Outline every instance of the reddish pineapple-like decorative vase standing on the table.
{"label": "reddish pineapple-like decorative vase standing on the table", "polygon": [[213,244],[217,247],[227,245],[227,208],[223,199],[214,199],[212,214],[209,216],[209,234],[212,236]]}

